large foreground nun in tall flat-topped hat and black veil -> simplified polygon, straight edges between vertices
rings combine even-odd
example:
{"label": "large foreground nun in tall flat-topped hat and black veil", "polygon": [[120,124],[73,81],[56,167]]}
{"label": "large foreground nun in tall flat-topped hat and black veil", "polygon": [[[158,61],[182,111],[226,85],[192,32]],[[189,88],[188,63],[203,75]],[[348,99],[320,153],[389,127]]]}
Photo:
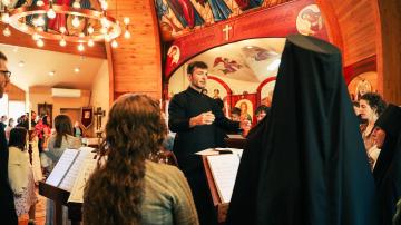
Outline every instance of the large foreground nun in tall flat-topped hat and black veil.
{"label": "large foreground nun in tall flat-topped hat and black veil", "polygon": [[287,37],[270,115],[255,129],[226,224],[379,224],[374,180],[338,48],[313,37]]}

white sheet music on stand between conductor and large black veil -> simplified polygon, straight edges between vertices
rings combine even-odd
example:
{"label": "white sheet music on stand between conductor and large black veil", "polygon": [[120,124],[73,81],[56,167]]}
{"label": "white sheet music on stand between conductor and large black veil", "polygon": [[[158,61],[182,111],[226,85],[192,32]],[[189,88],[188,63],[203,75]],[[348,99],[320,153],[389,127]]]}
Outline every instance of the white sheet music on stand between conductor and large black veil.
{"label": "white sheet music on stand between conductor and large black veil", "polygon": [[229,203],[231,200],[239,159],[241,156],[237,154],[207,156],[207,162],[223,203]]}

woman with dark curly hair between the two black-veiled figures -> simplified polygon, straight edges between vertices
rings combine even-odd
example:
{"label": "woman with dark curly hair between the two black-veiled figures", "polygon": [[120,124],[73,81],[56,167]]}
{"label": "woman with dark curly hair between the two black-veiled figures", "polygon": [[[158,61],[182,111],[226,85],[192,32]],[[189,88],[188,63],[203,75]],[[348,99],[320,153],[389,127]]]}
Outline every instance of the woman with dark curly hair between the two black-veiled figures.
{"label": "woman with dark curly hair between the two black-veiled figures", "polygon": [[361,97],[359,104],[360,104],[359,113],[361,119],[366,120],[365,124],[361,125],[362,138],[369,157],[369,163],[371,165],[371,168],[373,169],[380,149],[375,147],[372,133],[375,127],[374,123],[378,120],[379,116],[384,111],[387,105],[385,101],[382,99],[382,97],[375,92],[364,94]]}

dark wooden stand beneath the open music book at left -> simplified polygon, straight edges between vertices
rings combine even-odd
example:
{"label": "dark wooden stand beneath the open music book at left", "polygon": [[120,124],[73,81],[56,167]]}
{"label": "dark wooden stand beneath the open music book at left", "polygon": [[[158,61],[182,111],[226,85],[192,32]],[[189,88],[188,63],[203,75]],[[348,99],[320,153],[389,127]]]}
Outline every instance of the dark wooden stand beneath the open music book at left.
{"label": "dark wooden stand beneath the open music book at left", "polygon": [[80,224],[82,217],[82,204],[67,203],[70,195],[69,192],[48,185],[45,182],[39,182],[39,194],[55,202],[56,224],[62,224],[62,205],[68,207],[68,218],[71,221],[71,225]]}

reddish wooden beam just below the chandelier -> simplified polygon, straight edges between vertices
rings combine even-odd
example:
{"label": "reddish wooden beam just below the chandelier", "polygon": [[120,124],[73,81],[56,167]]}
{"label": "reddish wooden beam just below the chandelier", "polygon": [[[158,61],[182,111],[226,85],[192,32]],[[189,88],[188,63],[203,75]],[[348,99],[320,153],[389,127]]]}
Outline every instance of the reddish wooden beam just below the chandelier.
{"label": "reddish wooden beam just below the chandelier", "polygon": [[[0,22],[1,32],[4,28],[4,23]],[[77,43],[68,42],[66,47],[61,47],[58,41],[43,39],[45,46],[39,48],[30,35],[20,32],[12,27],[10,27],[10,37],[4,37],[0,33],[0,43],[106,59],[106,50],[102,42],[96,42],[94,47],[85,48],[85,51],[81,52],[78,51]]]}

